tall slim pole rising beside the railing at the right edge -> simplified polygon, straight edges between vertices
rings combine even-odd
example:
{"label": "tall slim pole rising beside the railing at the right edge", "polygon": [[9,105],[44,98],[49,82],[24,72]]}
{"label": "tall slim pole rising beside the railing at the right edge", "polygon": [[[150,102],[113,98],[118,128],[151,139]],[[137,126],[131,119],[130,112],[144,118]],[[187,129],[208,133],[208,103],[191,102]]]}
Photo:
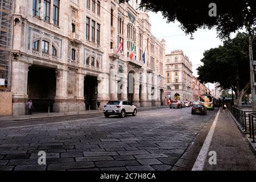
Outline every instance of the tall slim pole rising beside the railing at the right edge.
{"label": "tall slim pole rising beside the railing at the right edge", "polygon": [[254,86],[254,61],[253,61],[253,36],[249,36],[249,54],[250,54],[250,77],[251,77],[251,104],[253,106],[253,110],[256,109],[255,103],[255,86]]}

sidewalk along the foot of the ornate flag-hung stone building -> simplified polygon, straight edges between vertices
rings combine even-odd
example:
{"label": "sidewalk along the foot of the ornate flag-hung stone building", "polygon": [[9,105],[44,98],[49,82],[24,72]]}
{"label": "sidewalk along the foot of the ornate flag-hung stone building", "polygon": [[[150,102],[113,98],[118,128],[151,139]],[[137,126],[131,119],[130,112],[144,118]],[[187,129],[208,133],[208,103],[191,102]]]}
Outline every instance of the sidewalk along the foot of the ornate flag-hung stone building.
{"label": "sidewalk along the foot of the ornate flag-hung stone building", "polygon": [[[161,109],[167,106],[154,106],[154,107],[139,107],[138,111],[148,110],[148,109]],[[87,110],[76,112],[68,112],[68,113],[32,113],[32,115],[18,115],[18,116],[9,116],[9,117],[0,117],[1,121],[32,121],[36,119],[48,119],[48,118],[60,118],[60,117],[71,117],[75,115],[88,115],[88,114],[102,114],[103,110]]]}

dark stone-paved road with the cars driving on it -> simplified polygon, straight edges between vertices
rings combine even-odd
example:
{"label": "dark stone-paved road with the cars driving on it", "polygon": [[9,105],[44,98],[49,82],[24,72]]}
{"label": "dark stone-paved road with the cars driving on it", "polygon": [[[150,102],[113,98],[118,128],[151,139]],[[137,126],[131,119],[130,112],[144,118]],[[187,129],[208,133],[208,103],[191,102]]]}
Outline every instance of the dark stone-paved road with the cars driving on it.
{"label": "dark stone-paved road with the cars driving on it", "polygon": [[[188,170],[216,113],[164,108],[126,118],[7,122],[0,126],[0,170]],[[38,164],[39,151],[47,165]]]}

